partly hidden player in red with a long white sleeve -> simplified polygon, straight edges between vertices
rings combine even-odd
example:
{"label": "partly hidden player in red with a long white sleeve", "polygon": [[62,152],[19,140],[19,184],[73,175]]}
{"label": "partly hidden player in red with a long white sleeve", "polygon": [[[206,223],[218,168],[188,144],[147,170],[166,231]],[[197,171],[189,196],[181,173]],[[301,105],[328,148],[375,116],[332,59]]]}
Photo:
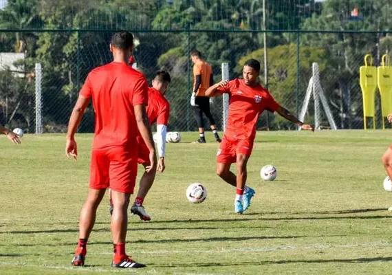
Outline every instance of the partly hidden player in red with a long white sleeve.
{"label": "partly hidden player in red with a long white sleeve", "polygon": [[[149,88],[149,104],[146,107],[147,115],[149,116],[150,125],[152,126],[157,123],[157,151],[159,160],[157,164],[157,171],[162,173],[165,169],[164,156],[166,151],[166,130],[168,124],[168,117],[170,113],[170,105],[164,94],[168,89],[168,85],[171,82],[170,74],[166,71],[159,71],[156,73],[153,79],[153,87]],[[149,161],[149,148],[146,146],[140,136],[138,136],[139,142],[139,153],[138,163],[142,164],[144,168],[150,166]],[[138,195],[135,198],[135,202],[131,207],[131,212],[137,214],[142,221],[150,221],[151,217],[147,214],[144,209],[143,201],[153,185],[155,179],[155,170],[150,172],[144,172],[140,179],[140,185]],[[110,192],[109,192],[110,194]],[[113,204],[110,202],[110,212],[113,209]]]}

